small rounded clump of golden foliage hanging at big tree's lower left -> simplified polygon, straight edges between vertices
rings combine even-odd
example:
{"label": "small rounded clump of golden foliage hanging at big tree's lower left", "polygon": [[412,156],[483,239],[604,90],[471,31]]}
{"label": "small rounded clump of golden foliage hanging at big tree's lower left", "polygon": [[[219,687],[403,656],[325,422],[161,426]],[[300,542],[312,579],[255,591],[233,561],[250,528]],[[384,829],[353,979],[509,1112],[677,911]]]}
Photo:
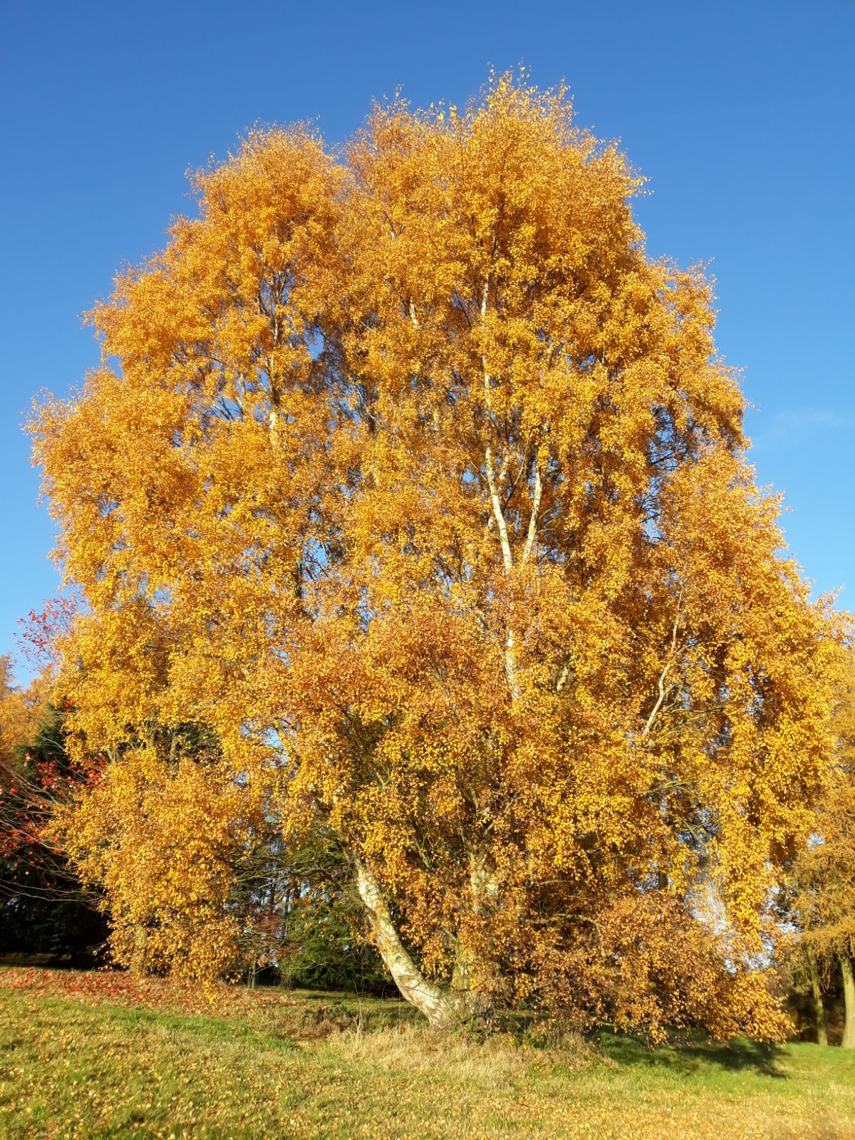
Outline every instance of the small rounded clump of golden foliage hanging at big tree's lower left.
{"label": "small rounded clump of golden foliage hanging at big tree's lower left", "polygon": [[253,819],[233,775],[199,754],[166,763],[148,742],[105,766],[84,808],[57,812],[79,874],[104,888],[120,964],[204,985],[239,963],[228,904]]}

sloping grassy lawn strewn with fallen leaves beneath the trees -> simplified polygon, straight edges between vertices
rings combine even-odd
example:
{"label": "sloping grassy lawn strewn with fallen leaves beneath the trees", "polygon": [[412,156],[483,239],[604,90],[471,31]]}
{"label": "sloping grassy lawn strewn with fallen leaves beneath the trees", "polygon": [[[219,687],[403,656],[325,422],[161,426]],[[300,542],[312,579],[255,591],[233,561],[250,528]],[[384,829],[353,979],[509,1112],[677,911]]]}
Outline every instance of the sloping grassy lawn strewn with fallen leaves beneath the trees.
{"label": "sloping grassy lawn strewn with fallen leaves beneath the trees", "polygon": [[0,1137],[855,1140],[840,1049],[438,1040],[397,1002],[0,970]]}

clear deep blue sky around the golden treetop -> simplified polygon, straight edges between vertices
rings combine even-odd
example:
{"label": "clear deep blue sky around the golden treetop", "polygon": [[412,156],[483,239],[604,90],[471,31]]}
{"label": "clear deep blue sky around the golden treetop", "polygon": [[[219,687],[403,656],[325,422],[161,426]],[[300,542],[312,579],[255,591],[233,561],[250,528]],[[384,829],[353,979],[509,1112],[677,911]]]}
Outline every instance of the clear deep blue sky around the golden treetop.
{"label": "clear deep blue sky around the golden treetop", "polygon": [[710,262],[759,479],[815,588],[855,609],[850,0],[0,0],[0,652],[58,588],[21,421],[97,361],[79,316],[190,209],[185,171],[256,122],[335,142],[373,97],[463,103],[520,62],[648,176],[650,252]]}

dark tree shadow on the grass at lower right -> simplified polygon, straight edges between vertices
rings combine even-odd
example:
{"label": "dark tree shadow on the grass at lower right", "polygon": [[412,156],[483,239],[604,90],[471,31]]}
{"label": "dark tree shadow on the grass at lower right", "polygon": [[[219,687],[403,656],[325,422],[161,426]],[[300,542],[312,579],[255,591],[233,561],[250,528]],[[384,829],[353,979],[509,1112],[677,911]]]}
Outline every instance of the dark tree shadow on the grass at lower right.
{"label": "dark tree shadow on the grass at lower right", "polygon": [[689,1074],[716,1066],[731,1073],[754,1073],[785,1081],[780,1067],[782,1050],[740,1037],[735,1041],[706,1041],[690,1034],[675,1035],[668,1044],[650,1045],[640,1037],[603,1031],[594,1039],[602,1051],[619,1065],[643,1065]]}

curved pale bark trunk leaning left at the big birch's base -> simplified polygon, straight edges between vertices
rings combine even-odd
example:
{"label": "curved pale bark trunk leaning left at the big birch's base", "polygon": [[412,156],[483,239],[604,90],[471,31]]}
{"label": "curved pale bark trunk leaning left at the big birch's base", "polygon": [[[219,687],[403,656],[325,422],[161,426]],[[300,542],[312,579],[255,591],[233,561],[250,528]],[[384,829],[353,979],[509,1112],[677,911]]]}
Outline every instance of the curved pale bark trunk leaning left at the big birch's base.
{"label": "curved pale bark trunk leaning left at the big birch's base", "polygon": [[355,866],[357,890],[372,919],[374,945],[401,996],[437,1029],[450,1029],[465,1021],[472,1012],[470,995],[443,990],[425,978],[401,943],[373,872],[359,858],[355,860]]}

